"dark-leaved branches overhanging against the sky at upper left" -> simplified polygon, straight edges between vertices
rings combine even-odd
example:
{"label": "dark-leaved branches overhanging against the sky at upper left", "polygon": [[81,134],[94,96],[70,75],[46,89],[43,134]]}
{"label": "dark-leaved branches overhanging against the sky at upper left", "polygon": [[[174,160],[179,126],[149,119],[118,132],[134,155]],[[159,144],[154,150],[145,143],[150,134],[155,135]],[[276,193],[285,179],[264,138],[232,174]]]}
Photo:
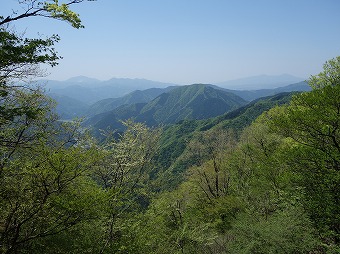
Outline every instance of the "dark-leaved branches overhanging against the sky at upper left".
{"label": "dark-leaved branches overhanging against the sky at upper left", "polygon": [[[41,16],[64,20],[75,28],[81,28],[83,26],[79,15],[71,11],[70,6],[83,1],[72,0],[61,4],[58,0],[18,1],[22,13],[13,11],[6,18],[0,16],[0,128],[13,122],[15,117],[25,116],[29,120],[34,120],[38,116],[40,107],[25,104],[22,99],[25,96],[31,96],[31,99],[42,97],[39,96],[41,89],[27,82],[43,75],[39,69],[40,64],[55,66],[60,59],[53,48],[59,41],[57,35],[47,39],[24,38],[11,28],[11,24],[19,19]],[[1,145],[4,145],[3,139],[1,136]]]}

